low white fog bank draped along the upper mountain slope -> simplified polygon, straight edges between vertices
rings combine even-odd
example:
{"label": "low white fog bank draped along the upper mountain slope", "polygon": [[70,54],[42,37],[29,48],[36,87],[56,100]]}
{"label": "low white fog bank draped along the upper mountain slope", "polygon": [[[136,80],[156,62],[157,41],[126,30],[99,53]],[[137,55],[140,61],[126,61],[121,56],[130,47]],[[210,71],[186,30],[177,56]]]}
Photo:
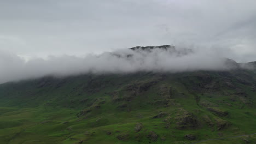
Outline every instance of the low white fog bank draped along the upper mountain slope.
{"label": "low white fog bank draped along the upper mountain slope", "polygon": [[[231,60],[230,60],[231,61]],[[235,63],[235,62],[234,62]],[[0,82],[37,78],[45,75],[126,74],[137,71],[171,72],[229,70],[223,53],[213,49],[188,49],[183,46],[134,47],[100,55],[49,56],[25,58],[0,52]]]}

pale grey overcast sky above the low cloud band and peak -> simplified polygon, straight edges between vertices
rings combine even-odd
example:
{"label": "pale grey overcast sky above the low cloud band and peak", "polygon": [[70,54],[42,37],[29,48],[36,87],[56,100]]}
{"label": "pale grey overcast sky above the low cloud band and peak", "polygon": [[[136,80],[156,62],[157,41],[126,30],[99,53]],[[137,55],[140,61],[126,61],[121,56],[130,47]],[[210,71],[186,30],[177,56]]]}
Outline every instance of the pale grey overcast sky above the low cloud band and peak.
{"label": "pale grey overcast sky above the low cloud band and peak", "polygon": [[133,46],[216,49],[256,61],[255,0],[0,0],[0,50],[83,56]]}

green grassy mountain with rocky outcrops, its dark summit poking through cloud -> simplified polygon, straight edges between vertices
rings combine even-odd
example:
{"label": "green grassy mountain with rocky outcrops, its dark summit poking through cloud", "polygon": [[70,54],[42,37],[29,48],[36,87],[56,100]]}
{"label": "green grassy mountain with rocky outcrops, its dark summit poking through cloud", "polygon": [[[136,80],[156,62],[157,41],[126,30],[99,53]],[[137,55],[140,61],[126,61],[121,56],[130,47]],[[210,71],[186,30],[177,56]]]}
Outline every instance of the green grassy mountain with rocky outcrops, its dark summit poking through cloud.
{"label": "green grassy mountain with rocky outcrops, its dark summit poking through cloud", "polygon": [[255,62],[226,64],[4,83],[0,143],[255,143],[242,136],[256,133],[256,71],[244,66]]}

